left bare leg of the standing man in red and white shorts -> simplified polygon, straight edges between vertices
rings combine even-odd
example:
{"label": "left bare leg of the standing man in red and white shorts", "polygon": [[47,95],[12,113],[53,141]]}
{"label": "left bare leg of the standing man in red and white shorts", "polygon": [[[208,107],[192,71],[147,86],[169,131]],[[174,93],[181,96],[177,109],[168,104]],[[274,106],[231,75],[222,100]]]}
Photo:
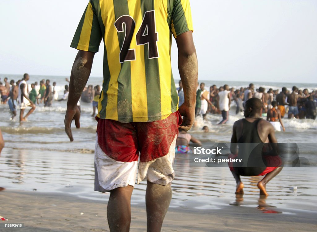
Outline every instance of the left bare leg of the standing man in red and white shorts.
{"label": "left bare leg of the standing man in red and white shorts", "polygon": [[107,219],[110,231],[129,231],[131,223],[131,195],[133,186],[115,188],[110,191]]}

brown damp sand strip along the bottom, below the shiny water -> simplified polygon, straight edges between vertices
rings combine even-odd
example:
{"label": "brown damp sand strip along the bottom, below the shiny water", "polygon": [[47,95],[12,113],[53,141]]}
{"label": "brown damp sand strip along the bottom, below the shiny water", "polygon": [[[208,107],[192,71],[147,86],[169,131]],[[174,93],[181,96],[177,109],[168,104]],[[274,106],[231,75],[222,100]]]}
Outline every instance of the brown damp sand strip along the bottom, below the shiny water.
{"label": "brown damp sand strip along the bottom, below the shiny water", "polygon": [[[0,215],[24,223],[10,231],[109,231],[107,204],[66,193],[0,192]],[[14,199],[14,200],[13,200]],[[212,199],[211,199],[212,200]],[[274,208],[273,208],[274,209]],[[146,208],[132,205],[130,231],[146,231]],[[162,231],[314,231],[317,212],[274,213],[258,207],[169,208]],[[266,212],[266,213],[265,213]],[[83,213],[83,214],[82,214]],[[265,214],[263,214],[265,213]]]}

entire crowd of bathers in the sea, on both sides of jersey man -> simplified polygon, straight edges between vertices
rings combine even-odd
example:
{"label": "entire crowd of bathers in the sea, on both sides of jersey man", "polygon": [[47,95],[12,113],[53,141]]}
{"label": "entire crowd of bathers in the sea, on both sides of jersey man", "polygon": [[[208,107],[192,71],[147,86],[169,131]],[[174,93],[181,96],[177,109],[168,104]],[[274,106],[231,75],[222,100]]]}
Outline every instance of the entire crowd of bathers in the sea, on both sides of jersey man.
{"label": "entire crowd of bathers in the sea, on both sides of jersey man", "polygon": [[[69,86],[65,85],[64,94],[59,97],[56,89],[56,82],[49,79],[42,79],[38,84],[37,81],[32,83],[31,89],[27,81],[29,75],[25,73],[22,80],[8,80],[4,78],[3,82],[0,79],[1,103],[8,104],[12,113],[11,119],[16,116],[16,109],[19,103],[20,109],[24,113],[24,109],[30,106],[30,111],[24,116],[20,112],[20,121],[26,120],[30,113],[32,113],[36,105],[43,104],[44,107],[52,106],[53,101],[63,101],[68,99]],[[69,82],[68,78],[66,81]],[[87,85],[82,92],[81,102],[91,103],[93,106],[92,116],[96,115],[98,108],[98,100],[101,93],[100,85]],[[179,106],[184,102],[184,92],[182,82],[179,81],[178,88]],[[266,117],[272,123],[275,130],[285,131],[282,118],[288,115],[288,118],[296,119],[316,119],[316,101],[317,91],[309,92],[308,89],[299,89],[293,86],[292,91],[283,87],[279,89],[266,89],[259,87],[255,89],[254,84],[249,84],[248,87],[241,87],[235,89],[229,85],[217,87],[217,85],[210,86],[210,89],[205,89],[204,83],[197,83],[197,99],[195,116],[202,116],[206,119],[208,113],[222,114],[222,120],[218,124],[224,124],[229,119],[229,112],[231,102],[236,104],[236,114],[243,112],[245,102],[252,98],[258,98],[262,102],[262,116]],[[80,102],[78,102],[80,108]],[[281,124],[281,127],[280,127]]]}

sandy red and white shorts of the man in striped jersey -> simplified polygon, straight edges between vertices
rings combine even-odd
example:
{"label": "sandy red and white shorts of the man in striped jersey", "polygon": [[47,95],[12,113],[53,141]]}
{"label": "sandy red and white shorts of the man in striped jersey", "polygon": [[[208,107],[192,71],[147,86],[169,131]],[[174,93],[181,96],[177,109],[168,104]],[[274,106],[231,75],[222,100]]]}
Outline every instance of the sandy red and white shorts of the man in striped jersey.
{"label": "sandy red and white shorts of the man in striped jersey", "polygon": [[97,120],[95,191],[134,186],[137,169],[137,183],[147,179],[167,185],[174,179],[172,165],[182,122],[178,111],[154,122]]}

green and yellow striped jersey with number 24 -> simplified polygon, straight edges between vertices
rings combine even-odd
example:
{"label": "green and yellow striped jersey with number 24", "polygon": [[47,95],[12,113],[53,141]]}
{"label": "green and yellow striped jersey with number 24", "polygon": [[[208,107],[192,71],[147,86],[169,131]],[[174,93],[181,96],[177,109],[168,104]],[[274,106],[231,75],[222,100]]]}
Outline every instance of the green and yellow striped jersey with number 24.
{"label": "green and yellow striped jersey with number 24", "polygon": [[71,47],[97,52],[104,41],[98,117],[165,119],[178,110],[171,38],[193,31],[189,0],[90,0]]}

